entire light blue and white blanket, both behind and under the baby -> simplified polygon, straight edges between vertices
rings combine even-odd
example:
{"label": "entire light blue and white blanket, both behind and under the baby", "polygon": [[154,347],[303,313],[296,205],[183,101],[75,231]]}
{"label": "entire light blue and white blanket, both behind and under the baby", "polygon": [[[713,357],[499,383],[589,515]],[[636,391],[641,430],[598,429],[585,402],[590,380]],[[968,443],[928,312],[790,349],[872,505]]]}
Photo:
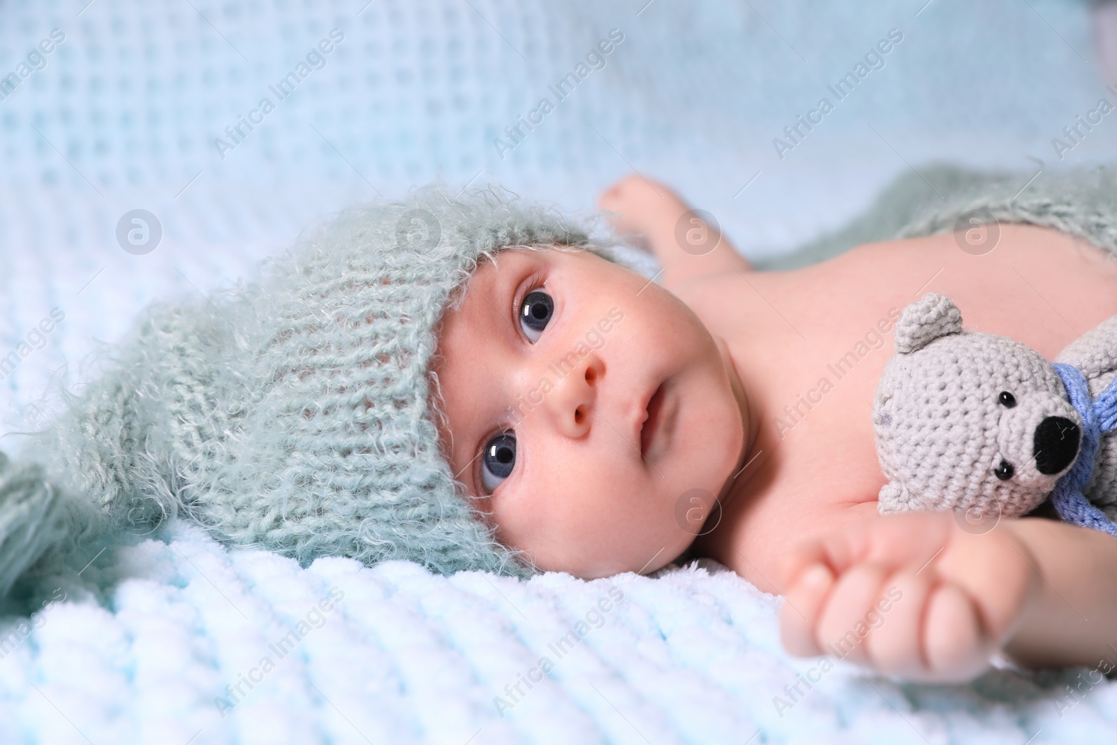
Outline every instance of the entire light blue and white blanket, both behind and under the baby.
{"label": "entire light blue and white blanket, both behind and under the baby", "polygon": [[[590,58],[612,29],[623,40]],[[890,29],[903,40],[867,60]],[[120,337],[145,303],[231,281],[351,201],[442,178],[588,210],[638,170],[771,257],[843,225],[899,173],[934,181],[929,161],[1027,176],[1041,168],[1030,157],[1047,172],[1111,157],[1111,115],[1052,147],[1100,97],[1117,101],[1087,60],[1086,4],[1052,0],[6,3],[0,78],[19,80],[0,83],[0,355],[28,354],[0,369],[2,429],[48,426],[40,397],[93,374],[82,361],[96,340]],[[829,93],[862,61],[852,93]],[[570,73],[558,101],[550,86]],[[280,98],[269,86],[284,79]],[[821,123],[798,125],[823,97]],[[542,120],[510,142],[522,116]],[[150,252],[118,238],[134,209],[160,223]],[[0,609],[0,742],[1117,736],[1117,693],[1089,671],[951,687],[844,663],[822,674],[783,653],[779,601],[714,565],[590,583],[300,569],[182,524],[89,553]]]}

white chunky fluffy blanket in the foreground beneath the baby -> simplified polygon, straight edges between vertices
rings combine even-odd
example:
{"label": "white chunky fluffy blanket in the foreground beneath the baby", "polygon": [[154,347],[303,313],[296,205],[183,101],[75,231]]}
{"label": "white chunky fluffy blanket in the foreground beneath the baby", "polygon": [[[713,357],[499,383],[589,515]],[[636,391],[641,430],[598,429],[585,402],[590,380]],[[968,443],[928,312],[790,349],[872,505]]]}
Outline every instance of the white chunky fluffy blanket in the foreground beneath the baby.
{"label": "white chunky fluffy blanket in the foreground beneath the baby", "polygon": [[1053,677],[1041,686],[994,670],[971,686],[909,686],[791,659],[779,601],[716,564],[593,582],[343,558],[302,569],[183,524],[90,558],[44,583],[30,625],[0,625],[0,742],[1117,736],[1108,686],[1077,703]]}

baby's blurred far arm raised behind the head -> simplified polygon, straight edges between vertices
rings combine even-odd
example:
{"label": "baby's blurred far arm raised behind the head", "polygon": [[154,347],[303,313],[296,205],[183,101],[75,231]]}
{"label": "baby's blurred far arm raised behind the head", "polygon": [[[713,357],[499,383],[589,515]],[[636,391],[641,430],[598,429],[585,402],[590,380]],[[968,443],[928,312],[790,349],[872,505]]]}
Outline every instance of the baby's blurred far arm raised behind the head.
{"label": "baby's blurred far arm raised behind the head", "polygon": [[695,277],[752,268],[714,226],[689,214],[690,208],[661,183],[628,176],[602,192],[598,207],[613,213],[619,233],[647,240],[663,266],[668,289]]}

